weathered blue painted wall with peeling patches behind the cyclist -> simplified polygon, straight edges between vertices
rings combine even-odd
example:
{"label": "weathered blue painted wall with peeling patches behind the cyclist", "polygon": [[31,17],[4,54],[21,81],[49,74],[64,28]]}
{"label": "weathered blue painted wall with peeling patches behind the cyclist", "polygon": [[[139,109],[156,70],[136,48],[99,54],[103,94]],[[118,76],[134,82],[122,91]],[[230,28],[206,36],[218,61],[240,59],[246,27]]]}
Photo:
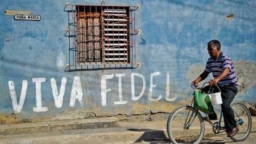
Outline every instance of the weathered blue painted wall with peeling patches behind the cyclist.
{"label": "weathered blue painted wall with peeling patches behind the cyclist", "polygon": [[[22,80],[27,80],[27,95],[20,118],[48,119],[74,111],[95,112],[97,115],[134,114],[152,111],[171,111],[182,101],[191,98],[189,84],[198,77],[208,59],[207,42],[221,41],[222,51],[228,53],[235,63],[239,82],[244,90],[236,101],[255,102],[255,1],[111,1],[105,5],[139,6],[136,11],[137,69],[64,72],[69,62],[68,39],[64,36],[67,13],[64,6],[69,4],[100,5],[101,1],[1,1],[0,7],[0,114],[15,112],[9,89],[9,81],[15,84],[19,102]],[[26,10],[41,15],[40,21],[14,20],[5,15],[6,10]],[[233,19],[225,19],[234,14]],[[153,98],[162,96],[160,101],[148,99],[150,75],[153,78]],[[131,74],[145,77],[146,88],[142,98],[131,100]],[[126,74],[122,77],[122,99],[119,101],[118,78],[107,80],[106,106],[101,104],[101,77],[111,74]],[[169,97],[166,101],[166,74],[169,74]],[[36,88],[32,78],[46,78],[41,83],[42,106],[46,112],[35,112]],[[57,82],[67,78],[62,108],[54,106],[51,78]],[[70,93],[74,77],[79,77],[83,88],[83,105],[76,101],[70,107]],[[135,78],[135,95],[142,90],[142,79]],[[64,119],[65,117],[62,117]],[[75,118],[75,117],[70,117]]]}

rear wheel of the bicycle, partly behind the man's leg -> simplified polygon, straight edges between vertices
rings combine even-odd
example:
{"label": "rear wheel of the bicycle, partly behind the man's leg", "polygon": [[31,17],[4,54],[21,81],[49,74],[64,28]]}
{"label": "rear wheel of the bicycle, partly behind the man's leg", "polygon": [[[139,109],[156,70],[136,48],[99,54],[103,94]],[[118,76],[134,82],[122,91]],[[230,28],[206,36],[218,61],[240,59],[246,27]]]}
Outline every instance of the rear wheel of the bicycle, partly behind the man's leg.
{"label": "rear wheel of the bicycle, partly behind the man's leg", "polygon": [[235,103],[232,106],[234,111],[235,120],[239,128],[239,132],[230,137],[235,142],[244,141],[249,135],[252,129],[252,117],[250,116],[249,109],[242,103]]}

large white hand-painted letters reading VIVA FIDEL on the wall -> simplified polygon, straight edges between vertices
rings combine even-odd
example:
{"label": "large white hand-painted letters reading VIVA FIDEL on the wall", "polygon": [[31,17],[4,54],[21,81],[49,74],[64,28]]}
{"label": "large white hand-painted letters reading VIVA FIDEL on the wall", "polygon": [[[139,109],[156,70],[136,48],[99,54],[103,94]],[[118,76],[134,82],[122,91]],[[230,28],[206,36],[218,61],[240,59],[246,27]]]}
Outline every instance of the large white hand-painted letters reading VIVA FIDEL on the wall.
{"label": "large white hand-painted letters reading VIVA FIDEL on the wall", "polygon": [[[160,101],[163,96],[159,95],[157,98],[153,98],[153,88],[155,88],[157,85],[153,82],[153,78],[160,75],[160,72],[154,72],[150,74],[150,86],[148,91],[148,100],[150,101]],[[102,75],[101,76],[101,106],[107,105],[107,94],[109,91],[111,91],[111,88],[108,88],[106,85],[106,82],[111,80],[114,77],[118,78],[118,98],[119,101],[114,101],[114,104],[126,104],[128,101],[123,100],[122,96],[122,77],[125,77],[126,74],[110,74],[110,75]],[[135,79],[136,78],[136,79]],[[142,80],[142,88],[139,95],[135,95],[135,80]],[[36,106],[33,107],[33,112],[46,112],[48,111],[47,107],[42,106],[42,93],[41,93],[41,85],[42,83],[46,82],[46,78],[39,77],[39,78],[32,78],[32,82],[35,83],[35,102]],[[63,104],[63,98],[65,95],[66,90],[66,83],[67,78],[62,77],[61,80],[61,86],[59,87],[56,83],[55,78],[50,79],[51,83],[51,90],[54,98],[54,105],[56,108],[62,108]],[[28,80],[22,81],[22,88],[20,91],[20,98],[19,102],[17,100],[17,95],[15,91],[15,84],[12,80],[9,80],[8,82],[10,95],[11,95],[11,101],[12,101],[12,108],[15,112],[19,113],[22,112],[23,104],[27,95],[27,87],[28,87]],[[131,100],[137,101],[140,98],[142,98],[145,89],[146,89],[146,80],[145,77],[142,74],[139,73],[132,73],[130,74],[130,88],[131,88]],[[166,72],[166,91],[165,91],[165,100],[166,101],[174,101],[176,100],[177,96],[171,97],[169,95],[170,93],[170,82],[169,82],[169,73]],[[155,96],[154,96],[155,97]],[[80,104],[80,106],[83,106],[83,87],[82,82],[79,76],[75,76],[72,83],[71,93],[70,93],[70,101],[69,101],[69,107],[74,107],[76,101]]]}

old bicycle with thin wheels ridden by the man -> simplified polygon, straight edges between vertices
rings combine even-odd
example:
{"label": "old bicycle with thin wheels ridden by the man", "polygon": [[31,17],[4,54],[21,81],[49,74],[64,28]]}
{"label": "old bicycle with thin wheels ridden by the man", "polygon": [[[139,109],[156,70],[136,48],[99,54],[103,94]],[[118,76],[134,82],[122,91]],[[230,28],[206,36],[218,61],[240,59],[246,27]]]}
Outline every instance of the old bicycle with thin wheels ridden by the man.
{"label": "old bicycle with thin wheels ridden by the man", "polygon": [[[203,85],[205,85],[205,83]],[[202,88],[196,88],[195,90],[202,90]],[[221,120],[223,117],[223,112],[220,112],[220,119],[217,122],[211,121],[207,114],[205,119],[203,119],[199,110],[192,106],[193,100],[190,106],[181,106],[176,108],[168,117],[167,132],[169,140],[175,144],[200,143],[205,132],[204,121],[210,123],[214,133],[225,132],[225,127],[223,124],[224,121]],[[250,130],[252,129],[252,118],[250,111],[242,103],[231,104],[231,108],[234,111],[239,132],[230,138],[234,142],[244,141],[247,137],[249,137]]]}

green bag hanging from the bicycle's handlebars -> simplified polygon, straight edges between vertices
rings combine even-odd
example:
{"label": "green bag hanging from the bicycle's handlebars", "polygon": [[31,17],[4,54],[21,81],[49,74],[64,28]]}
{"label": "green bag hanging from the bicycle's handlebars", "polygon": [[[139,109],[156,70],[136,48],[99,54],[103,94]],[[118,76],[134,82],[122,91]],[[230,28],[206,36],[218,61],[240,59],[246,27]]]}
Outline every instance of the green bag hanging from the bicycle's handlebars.
{"label": "green bag hanging from the bicycle's handlebars", "polygon": [[200,91],[194,91],[194,108],[199,109],[206,114],[213,113],[213,105],[211,104],[210,97],[205,94],[201,93]]}

